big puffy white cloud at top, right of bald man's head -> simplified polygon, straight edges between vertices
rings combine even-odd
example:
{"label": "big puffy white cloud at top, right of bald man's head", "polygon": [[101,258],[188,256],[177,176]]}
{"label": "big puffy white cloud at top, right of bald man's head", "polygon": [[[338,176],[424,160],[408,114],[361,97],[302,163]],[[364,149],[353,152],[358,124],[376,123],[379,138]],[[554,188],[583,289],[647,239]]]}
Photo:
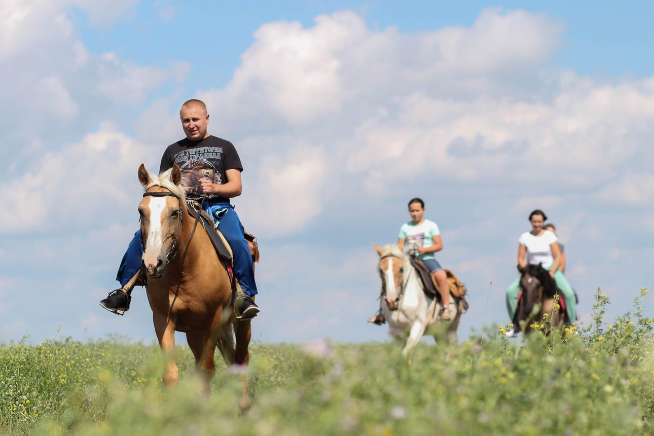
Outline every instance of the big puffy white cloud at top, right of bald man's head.
{"label": "big puffy white cloud at top, right of bald man's head", "polygon": [[472,28],[417,35],[373,31],[349,11],[318,16],[309,28],[275,22],[254,33],[232,82],[210,96],[304,125],[416,90],[489,93],[508,75],[532,72],[561,30],[544,16],[500,10],[486,10]]}

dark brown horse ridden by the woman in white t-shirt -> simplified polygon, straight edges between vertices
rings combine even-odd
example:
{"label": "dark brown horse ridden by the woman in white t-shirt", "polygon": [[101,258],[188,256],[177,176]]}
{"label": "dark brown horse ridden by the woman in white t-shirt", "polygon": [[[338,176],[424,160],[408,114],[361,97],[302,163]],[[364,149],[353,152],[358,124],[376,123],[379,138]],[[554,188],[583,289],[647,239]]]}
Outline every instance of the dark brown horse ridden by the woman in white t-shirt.
{"label": "dark brown horse ridden by the woman in white t-shirt", "polygon": [[[515,331],[523,329],[526,335],[532,331],[533,322],[545,324],[545,332],[549,332],[551,327],[562,326],[566,318],[565,311],[562,309],[564,302],[559,301],[561,309],[555,308],[554,295],[559,293],[559,288],[554,278],[540,263],[527,265],[522,269],[518,267],[518,271],[522,274],[520,278],[522,292],[513,316]],[[543,319],[544,314],[547,314],[545,319]]]}

